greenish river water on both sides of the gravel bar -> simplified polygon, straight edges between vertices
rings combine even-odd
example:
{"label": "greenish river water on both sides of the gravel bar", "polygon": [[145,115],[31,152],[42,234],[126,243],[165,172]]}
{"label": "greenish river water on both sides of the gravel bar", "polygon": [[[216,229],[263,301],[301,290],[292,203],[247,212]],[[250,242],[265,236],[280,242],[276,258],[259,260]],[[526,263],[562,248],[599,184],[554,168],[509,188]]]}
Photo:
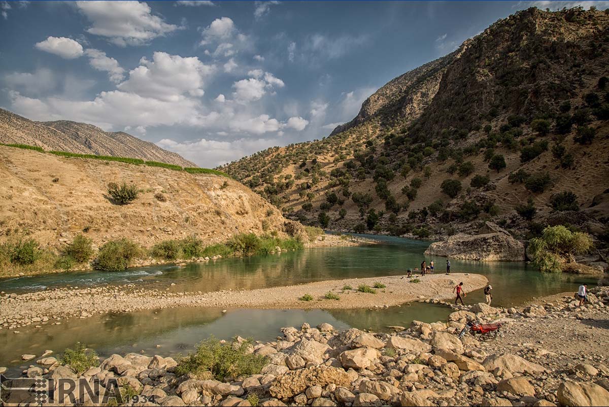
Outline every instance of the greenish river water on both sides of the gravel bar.
{"label": "greenish river water on both sides of the gravel bar", "polygon": [[[27,292],[65,286],[99,286],[135,283],[169,291],[217,291],[295,285],[340,278],[406,274],[425,259],[435,262],[436,272],[445,272],[446,259],[425,257],[429,242],[390,236],[364,237],[378,244],[356,247],[326,247],[248,258],[227,258],[185,267],[153,266],[124,272],[68,272],[0,280],[0,291]],[[484,274],[493,286],[493,305],[519,305],[533,297],[563,291],[577,291],[590,278],[568,274],[542,274],[526,263],[451,260],[451,271]],[[174,283],[175,285],[171,285]],[[465,286],[465,292],[468,288]],[[424,295],[421,292],[421,295]],[[381,293],[379,303],[382,303]],[[483,300],[474,291],[466,302]],[[157,311],[97,315],[63,320],[62,325],[18,328],[15,334],[0,330],[0,366],[17,371],[25,366],[24,353],[40,355],[45,349],[62,352],[80,341],[101,356],[111,353],[144,352],[148,355],[176,355],[193,349],[209,335],[230,339],[240,335],[272,341],[279,328],[311,326],[328,322],[335,328],[356,327],[387,331],[389,325],[407,327],[414,319],[434,322],[445,319],[449,308],[412,303],[381,310],[227,310],[172,308]]]}

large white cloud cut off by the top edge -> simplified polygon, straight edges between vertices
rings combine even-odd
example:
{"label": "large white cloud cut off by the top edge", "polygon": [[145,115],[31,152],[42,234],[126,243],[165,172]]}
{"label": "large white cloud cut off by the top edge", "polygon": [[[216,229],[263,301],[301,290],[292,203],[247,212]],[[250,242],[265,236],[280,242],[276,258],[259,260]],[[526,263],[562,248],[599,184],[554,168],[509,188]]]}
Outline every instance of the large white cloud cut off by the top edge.
{"label": "large white cloud cut off by the top edge", "polygon": [[143,45],[178,29],[152,15],[145,2],[77,1],[76,6],[93,24],[86,30],[89,34],[106,37],[118,46]]}

